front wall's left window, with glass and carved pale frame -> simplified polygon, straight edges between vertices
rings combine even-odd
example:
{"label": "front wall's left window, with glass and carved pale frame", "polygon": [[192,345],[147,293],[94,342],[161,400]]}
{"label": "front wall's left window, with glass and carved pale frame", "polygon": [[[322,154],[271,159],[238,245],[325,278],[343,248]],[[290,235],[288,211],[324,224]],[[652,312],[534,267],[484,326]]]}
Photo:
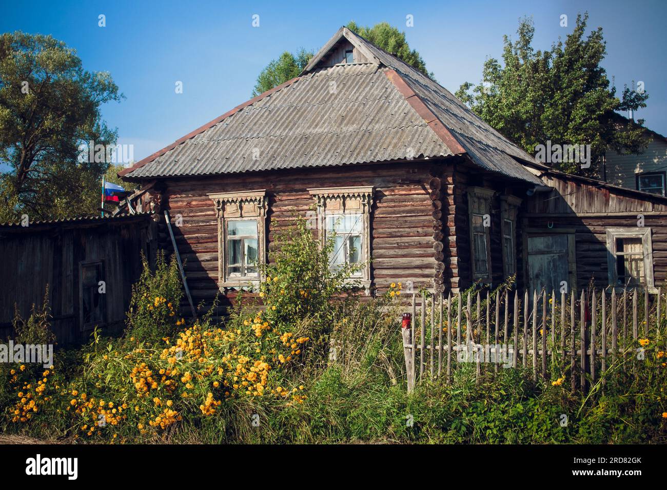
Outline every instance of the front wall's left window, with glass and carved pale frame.
{"label": "front wall's left window, with glass and carved pale frame", "polygon": [[261,280],[265,263],[265,190],[209,194],[218,223],[218,285],[241,288]]}

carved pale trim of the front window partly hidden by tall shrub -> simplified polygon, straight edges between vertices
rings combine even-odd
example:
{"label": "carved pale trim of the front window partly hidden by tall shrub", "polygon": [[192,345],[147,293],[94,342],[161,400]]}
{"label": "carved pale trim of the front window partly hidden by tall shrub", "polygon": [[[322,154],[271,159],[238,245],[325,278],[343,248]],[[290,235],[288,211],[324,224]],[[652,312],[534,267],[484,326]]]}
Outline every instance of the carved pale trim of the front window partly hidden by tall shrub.
{"label": "carved pale trim of the front window partly hidden by tall shrub", "polygon": [[371,209],[373,207],[374,187],[318,187],[307,189],[315,199],[317,207],[317,236],[320,246],[326,239],[327,215],[362,215],[362,257],[364,267],[360,277],[351,277],[359,281],[367,290],[371,285]]}

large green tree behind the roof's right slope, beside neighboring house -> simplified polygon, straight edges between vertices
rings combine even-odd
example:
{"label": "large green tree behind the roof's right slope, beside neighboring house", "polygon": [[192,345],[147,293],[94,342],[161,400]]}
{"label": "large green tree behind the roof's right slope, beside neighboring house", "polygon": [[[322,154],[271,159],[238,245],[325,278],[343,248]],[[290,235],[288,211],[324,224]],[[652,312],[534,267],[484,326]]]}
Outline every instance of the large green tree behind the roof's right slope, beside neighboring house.
{"label": "large green tree behind the roof's right slope, beside neighboring house", "polygon": [[[602,27],[584,38],[588,13],[578,15],[574,31],[550,51],[535,51],[535,28],[520,21],[518,40],[504,37],[503,61],[488,59],[482,83],[463,83],[456,96],[484,121],[527,153],[536,145],[591,145],[591,162],[608,149],[640,153],[648,141],[643,120],[628,121],[614,111],[646,107],[648,93],[625,87],[622,99],[610,87],[600,62],[606,55]],[[633,82],[634,84],[634,82]],[[471,90],[472,89],[472,90]],[[471,93],[472,92],[472,93]],[[576,161],[553,163],[568,173],[594,175],[596,165],[582,169]]]}

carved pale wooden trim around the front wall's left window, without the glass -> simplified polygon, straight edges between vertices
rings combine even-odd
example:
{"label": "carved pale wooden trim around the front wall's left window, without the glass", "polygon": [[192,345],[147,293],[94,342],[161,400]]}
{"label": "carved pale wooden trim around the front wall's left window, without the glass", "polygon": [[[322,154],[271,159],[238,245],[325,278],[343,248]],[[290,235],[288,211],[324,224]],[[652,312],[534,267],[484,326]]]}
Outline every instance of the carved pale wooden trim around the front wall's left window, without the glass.
{"label": "carved pale wooden trim around the front wall's left window, without the glass", "polygon": [[257,191],[240,191],[225,193],[210,193],[208,197],[215,204],[215,218],[217,221],[217,283],[220,289],[241,288],[247,285],[259,285],[263,280],[261,271],[256,276],[229,277],[227,267],[226,233],[227,223],[239,219],[255,219],[257,221],[257,261],[259,265],[267,261],[266,247],[266,215],[269,201],[266,189]]}

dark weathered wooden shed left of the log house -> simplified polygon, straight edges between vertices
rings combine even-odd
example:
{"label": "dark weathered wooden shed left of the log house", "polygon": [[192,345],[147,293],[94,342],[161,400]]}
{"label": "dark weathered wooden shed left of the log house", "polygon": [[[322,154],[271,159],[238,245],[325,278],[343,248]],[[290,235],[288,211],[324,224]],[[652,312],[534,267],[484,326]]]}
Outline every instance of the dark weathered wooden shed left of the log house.
{"label": "dark weathered wooden shed left of the log house", "polygon": [[156,226],[149,214],[0,225],[0,338],[15,308],[27,318],[47,287],[59,345],[86,341],[96,325],[122,329],[141,253],[155,257]]}

